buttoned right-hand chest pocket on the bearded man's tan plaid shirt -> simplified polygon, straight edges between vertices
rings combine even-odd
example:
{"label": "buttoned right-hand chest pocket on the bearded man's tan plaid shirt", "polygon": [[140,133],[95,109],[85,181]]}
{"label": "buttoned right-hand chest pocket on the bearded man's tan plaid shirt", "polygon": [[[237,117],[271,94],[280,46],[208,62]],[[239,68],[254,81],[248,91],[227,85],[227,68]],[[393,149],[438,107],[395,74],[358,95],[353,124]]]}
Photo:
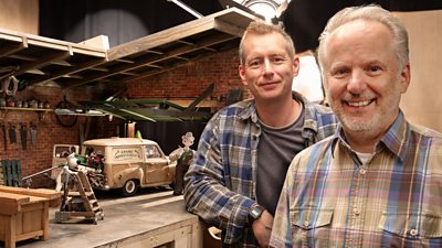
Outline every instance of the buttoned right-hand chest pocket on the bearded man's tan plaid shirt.
{"label": "buttoned right-hand chest pocket on the bearded man's tan plaid shirt", "polygon": [[432,213],[385,212],[382,247],[442,247],[442,216]]}

